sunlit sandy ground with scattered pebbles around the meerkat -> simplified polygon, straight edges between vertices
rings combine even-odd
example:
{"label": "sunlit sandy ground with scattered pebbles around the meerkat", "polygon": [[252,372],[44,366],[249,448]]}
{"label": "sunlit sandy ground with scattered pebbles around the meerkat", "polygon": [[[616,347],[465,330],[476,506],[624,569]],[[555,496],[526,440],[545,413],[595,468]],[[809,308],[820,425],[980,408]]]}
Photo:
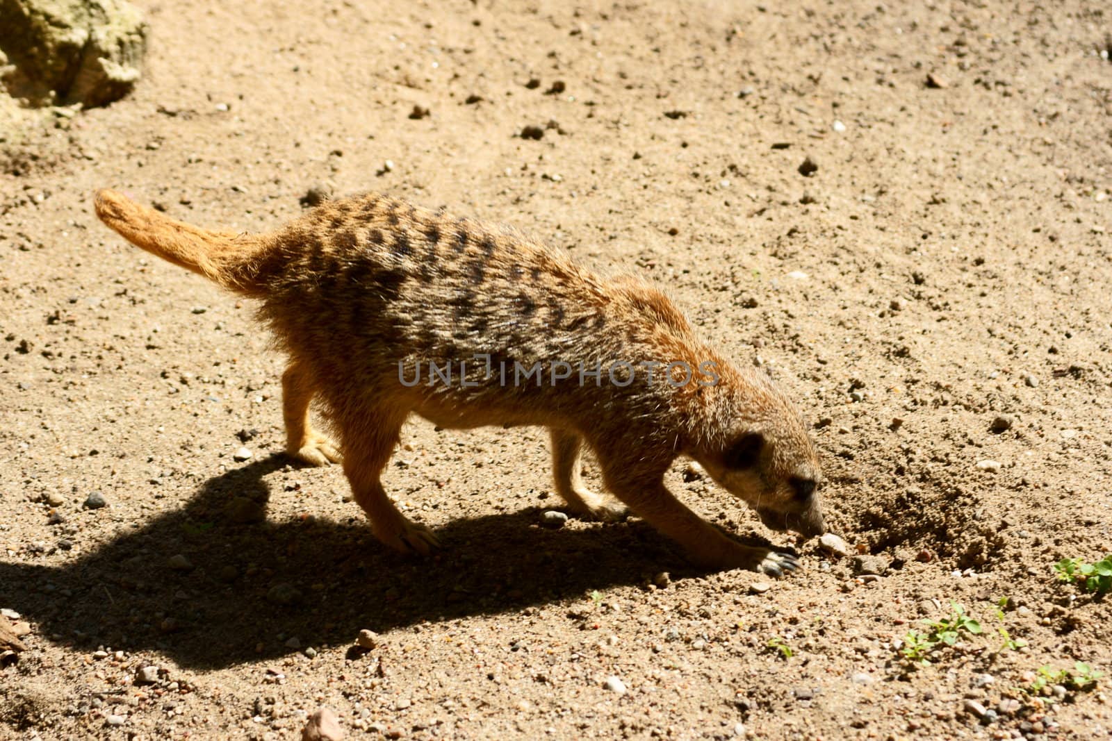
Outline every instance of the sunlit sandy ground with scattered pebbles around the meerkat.
{"label": "sunlit sandy ground with scattered pebbles around the meerkat", "polygon": [[[0,118],[0,737],[1109,738],[1112,612],[1053,570],[1112,552],[1103,3],[139,4],[133,96]],[[543,529],[543,430],[420,421],[386,481],[446,549],[386,552],[281,454],[250,303],[90,210],[262,230],[321,183],[659,281],[797,400],[860,558],[683,463],[801,570]],[[983,631],[909,660],[951,601]]]}

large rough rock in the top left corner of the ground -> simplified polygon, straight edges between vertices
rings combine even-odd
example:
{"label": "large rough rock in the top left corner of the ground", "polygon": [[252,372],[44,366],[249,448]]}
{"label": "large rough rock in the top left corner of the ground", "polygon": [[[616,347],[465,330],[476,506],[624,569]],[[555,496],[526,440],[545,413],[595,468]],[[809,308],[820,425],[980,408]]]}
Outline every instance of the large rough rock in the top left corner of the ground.
{"label": "large rough rock in the top left corner of the ground", "polygon": [[103,106],[139,79],[147,24],[125,0],[0,0],[0,49],[21,97]]}

